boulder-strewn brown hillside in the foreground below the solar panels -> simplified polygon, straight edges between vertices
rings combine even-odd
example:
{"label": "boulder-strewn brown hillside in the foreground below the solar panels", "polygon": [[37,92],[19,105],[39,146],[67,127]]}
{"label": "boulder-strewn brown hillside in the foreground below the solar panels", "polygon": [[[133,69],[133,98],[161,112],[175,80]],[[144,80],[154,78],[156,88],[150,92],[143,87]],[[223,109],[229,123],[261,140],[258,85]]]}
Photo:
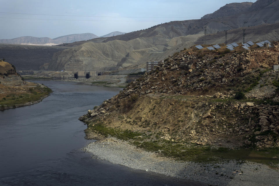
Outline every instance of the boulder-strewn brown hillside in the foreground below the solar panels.
{"label": "boulder-strewn brown hillside in the foreground below the solar panels", "polygon": [[[182,157],[189,144],[278,147],[279,72],[271,70],[278,65],[278,49],[276,42],[273,49],[255,51],[192,47],[176,53],[88,110],[80,118],[88,124],[87,137],[116,136]],[[177,153],[170,154],[166,143],[180,144],[173,149]]]}

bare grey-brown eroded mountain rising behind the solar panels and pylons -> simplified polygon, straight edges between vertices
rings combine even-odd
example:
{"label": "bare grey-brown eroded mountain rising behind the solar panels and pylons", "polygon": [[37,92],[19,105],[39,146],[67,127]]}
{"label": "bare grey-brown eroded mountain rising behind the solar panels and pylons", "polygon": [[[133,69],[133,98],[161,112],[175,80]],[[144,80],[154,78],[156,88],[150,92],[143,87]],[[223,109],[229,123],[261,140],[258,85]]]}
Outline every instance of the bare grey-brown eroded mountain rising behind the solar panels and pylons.
{"label": "bare grey-brown eroded mountain rising behind the solar panels and pylons", "polygon": [[[187,48],[193,44],[203,44],[205,26],[207,27],[208,33],[210,33],[208,43],[218,44],[225,42],[224,30],[229,30],[229,41],[241,42],[242,28],[240,27],[245,26],[249,28],[246,32],[246,39],[248,40],[274,40],[277,36],[275,30],[279,26],[278,24],[274,24],[278,22],[279,18],[279,15],[276,16],[279,14],[277,10],[278,5],[279,1],[269,1],[268,4],[262,0],[257,1],[256,4],[231,3],[220,8],[213,14],[220,15],[218,13],[219,11],[223,12],[224,15],[228,15],[226,14],[226,9],[231,9],[232,7],[238,9],[242,7],[240,10],[251,9],[254,11],[260,9],[257,11],[259,15],[257,17],[256,15],[251,17],[249,15],[251,12],[244,11],[244,14],[234,17],[235,13],[232,12],[237,11],[233,10],[232,12],[227,11],[232,16],[225,17],[224,19],[212,18],[173,21],[124,35],[88,40],[87,43],[80,43],[80,45],[78,45],[79,42],[76,42],[74,45],[78,46],[56,53],[50,68],[53,70],[58,66],[65,70],[74,69],[77,66],[82,69],[101,67],[107,69],[109,67],[110,69],[142,68],[145,67],[146,61],[163,60],[184,47]],[[272,8],[272,11],[267,11],[270,8]],[[262,25],[265,22],[271,22],[272,24]],[[255,24],[255,26],[252,24]],[[98,55],[93,55],[93,53],[97,53]],[[78,61],[78,65],[74,63],[75,61]],[[58,65],[56,63],[60,64]]]}

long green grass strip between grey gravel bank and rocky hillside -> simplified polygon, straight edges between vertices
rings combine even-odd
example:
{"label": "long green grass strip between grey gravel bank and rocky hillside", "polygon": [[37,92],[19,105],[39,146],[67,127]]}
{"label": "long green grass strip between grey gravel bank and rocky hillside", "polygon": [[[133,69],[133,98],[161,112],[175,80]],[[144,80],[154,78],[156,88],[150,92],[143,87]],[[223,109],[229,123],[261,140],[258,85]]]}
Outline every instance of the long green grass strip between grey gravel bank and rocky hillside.
{"label": "long green grass strip between grey gravel bank and rocky hillside", "polygon": [[266,164],[278,169],[279,148],[253,149],[240,148],[230,149],[211,145],[198,145],[189,142],[175,142],[161,139],[160,135],[140,133],[132,130],[121,130],[105,127],[100,122],[88,124],[86,134],[98,133],[104,137],[117,137],[120,140],[127,140],[131,144],[146,151],[156,152],[166,157],[177,160],[193,162],[222,162],[226,160],[238,160],[239,163],[245,161]]}

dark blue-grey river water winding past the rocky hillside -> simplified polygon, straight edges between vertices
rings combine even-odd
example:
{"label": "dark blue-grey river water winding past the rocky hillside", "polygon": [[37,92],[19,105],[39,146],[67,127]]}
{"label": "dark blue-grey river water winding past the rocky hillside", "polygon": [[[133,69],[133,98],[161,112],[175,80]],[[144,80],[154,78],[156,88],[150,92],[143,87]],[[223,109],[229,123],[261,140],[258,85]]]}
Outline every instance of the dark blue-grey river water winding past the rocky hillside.
{"label": "dark blue-grey river water winding past the rocky hillside", "polygon": [[[193,185],[91,158],[81,150],[78,117],[120,88],[37,81],[53,90],[42,102],[0,111],[0,185]],[[195,185],[195,184],[194,184]]]}

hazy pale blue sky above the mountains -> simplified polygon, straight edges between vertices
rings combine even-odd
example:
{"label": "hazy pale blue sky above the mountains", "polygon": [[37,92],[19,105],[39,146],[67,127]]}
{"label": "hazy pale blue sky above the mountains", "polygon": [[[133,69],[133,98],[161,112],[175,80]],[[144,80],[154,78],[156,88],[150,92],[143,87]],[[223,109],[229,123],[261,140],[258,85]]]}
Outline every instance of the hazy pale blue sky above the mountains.
{"label": "hazy pale blue sky above the mountains", "polygon": [[0,39],[131,32],[169,21],[200,19],[227,3],[244,1],[0,0]]}

